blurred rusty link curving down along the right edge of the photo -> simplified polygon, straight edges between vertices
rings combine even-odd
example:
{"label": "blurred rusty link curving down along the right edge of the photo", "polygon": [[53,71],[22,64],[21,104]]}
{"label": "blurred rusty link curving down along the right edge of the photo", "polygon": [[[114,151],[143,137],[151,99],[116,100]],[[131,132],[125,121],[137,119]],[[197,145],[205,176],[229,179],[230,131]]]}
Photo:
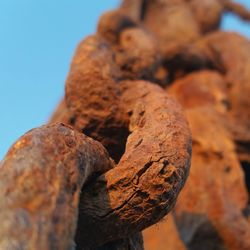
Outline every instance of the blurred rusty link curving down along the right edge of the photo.
{"label": "blurred rusty link curving down along the right edge of the photo", "polygon": [[[228,88],[228,122],[240,157],[249,161],[250,41],[236,33],[217,31],[194,44],[214,65],[224,69]],[[247,159],[248,158],[248,159]]]}

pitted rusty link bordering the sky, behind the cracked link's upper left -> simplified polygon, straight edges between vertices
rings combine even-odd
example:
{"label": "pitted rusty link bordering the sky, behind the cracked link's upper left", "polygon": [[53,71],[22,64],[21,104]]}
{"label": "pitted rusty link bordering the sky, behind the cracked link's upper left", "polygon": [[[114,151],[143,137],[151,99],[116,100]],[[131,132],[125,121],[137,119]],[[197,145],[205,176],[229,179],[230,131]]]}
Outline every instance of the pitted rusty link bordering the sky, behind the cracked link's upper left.
{"label": "pitted rusty link bordering the sky, behind the cracked link's upper left", "polygon": [[100,141],[116,161],[128,135],[116,82],[120,76],[109,43],[98,35],[90,36],[76,50],[65,94],[69,123]]}

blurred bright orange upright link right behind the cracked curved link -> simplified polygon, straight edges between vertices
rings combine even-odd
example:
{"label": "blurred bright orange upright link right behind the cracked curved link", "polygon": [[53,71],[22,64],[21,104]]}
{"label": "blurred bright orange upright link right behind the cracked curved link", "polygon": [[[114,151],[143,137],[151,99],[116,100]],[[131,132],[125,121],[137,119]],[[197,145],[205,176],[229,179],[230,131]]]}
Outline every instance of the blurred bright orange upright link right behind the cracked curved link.
{"label": "blurred bright orange upright link right behind the cracked curved link", "polygon": [[[245,176],[225,126],[226,81],[206,70],[175,81],[168,92],[186,109],[193,136],[189,179],[172,212],[183,243],[190,250],[249,249]],[[168,220],[162,224],[155,241],[172,226]],[[164,235],[166,242],[172,242],[172,234]],[[146,249],[153,249],[145,242]]]}

